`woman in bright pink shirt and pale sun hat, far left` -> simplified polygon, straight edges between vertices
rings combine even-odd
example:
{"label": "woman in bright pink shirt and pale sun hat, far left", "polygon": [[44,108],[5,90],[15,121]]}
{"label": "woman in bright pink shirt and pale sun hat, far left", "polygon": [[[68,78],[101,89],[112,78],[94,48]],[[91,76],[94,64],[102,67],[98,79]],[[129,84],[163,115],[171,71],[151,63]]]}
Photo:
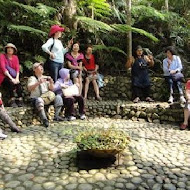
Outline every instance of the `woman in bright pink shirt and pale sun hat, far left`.
{"label": "woman in bright pink shirt and pale sun hat, far left", "polygon": [[[0,55],[0,86],[8,86],[10,94],[10,106],[23,106],[22,88],[19,80],[20,65],[17,55],[17,48],[14,44],[8,43],[5,46],[5,53]],[[18,102],[16,103],[16,98]]]}

